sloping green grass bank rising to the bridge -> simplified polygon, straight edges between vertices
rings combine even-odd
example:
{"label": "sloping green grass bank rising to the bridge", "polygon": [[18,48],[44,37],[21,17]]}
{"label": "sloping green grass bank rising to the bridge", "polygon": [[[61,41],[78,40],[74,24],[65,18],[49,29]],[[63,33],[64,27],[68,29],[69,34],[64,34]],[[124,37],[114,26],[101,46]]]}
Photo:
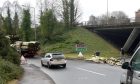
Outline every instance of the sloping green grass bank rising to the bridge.
{"label": "sloping green grass bank rising to the bridge", "polygon": [[83,52],[86,58],[91,57],[96,51],[101,52],[103,57],[118,57],[119,51],[109,44],[107,41],[102,39],[95,33],[89,32],[83,28],[76,28],[64,35],[65,41],[57,42],[55,44],[49,44],[42,49],[45,52],[63,52],[67,57],[76,57],[78,53],[75,51],[75,42],[79,40],[85,43],[87,51]]}

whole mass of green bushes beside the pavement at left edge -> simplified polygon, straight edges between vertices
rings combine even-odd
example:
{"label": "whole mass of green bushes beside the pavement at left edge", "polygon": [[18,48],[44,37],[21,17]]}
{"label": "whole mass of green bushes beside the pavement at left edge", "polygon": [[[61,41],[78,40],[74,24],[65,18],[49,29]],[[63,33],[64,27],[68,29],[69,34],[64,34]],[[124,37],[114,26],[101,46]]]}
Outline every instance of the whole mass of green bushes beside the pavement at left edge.
{"label": "whole mass of green bushes beside the pavement at left edge", "polygon": [[10,47],[9,40],[0,32],[0,84],[18,79],[23,73],[20,67],[20,55]]}

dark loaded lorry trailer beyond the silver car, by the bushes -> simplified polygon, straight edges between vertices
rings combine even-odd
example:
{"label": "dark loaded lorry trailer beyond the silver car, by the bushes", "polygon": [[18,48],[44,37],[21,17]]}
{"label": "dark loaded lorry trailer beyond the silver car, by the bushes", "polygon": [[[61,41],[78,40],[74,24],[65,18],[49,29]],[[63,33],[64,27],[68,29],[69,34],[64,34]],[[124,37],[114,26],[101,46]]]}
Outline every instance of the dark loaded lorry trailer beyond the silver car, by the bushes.
{"label": "dark loaded lorry trailer beyond the silver car, by the bushes", "polygon": [[25,57],[34,57],[40,49],[40,43],[37,41],[16,42],[16,50]]}

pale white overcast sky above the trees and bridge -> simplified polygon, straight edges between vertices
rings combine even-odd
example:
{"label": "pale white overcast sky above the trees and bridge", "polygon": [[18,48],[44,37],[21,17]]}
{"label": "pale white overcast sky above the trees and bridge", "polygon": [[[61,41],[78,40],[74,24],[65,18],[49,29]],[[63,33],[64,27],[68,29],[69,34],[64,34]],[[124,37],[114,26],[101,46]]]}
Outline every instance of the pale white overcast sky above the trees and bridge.
{"label": "pale white overcast sky above the trees and bridge", "polygon": [[[0,7],[7,0],[0,0]],[[9,0],[13,2],[15,0]],[[37,0],[39,1],[39,0]],[[82,12],[82,21],[88,20],[90,15],[100,16],[107,12],[107,0],[78,0]],[[22,4],[30,3],[36,7],[36,0],[18,0]],[[129,17],[135,17],[135,12],[140,9],[140,0],[108,0],[108,11],[123,11]]]}

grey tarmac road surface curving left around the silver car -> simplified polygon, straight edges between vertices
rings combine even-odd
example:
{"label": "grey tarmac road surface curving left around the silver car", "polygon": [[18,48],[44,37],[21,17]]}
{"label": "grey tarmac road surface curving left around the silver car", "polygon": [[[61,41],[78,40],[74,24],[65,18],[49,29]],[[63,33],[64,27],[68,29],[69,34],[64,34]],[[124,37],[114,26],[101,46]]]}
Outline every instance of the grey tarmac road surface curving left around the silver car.
{"label": "grey tarmac road surface curving left around the silver car", "polygon": [[95,64],[79,60],[68,60],[67,67],[42,67],[40,58],[28,59],[47,73],[56,84],[119,84],[123,70],[118,66]]}

